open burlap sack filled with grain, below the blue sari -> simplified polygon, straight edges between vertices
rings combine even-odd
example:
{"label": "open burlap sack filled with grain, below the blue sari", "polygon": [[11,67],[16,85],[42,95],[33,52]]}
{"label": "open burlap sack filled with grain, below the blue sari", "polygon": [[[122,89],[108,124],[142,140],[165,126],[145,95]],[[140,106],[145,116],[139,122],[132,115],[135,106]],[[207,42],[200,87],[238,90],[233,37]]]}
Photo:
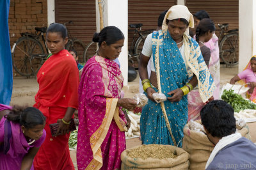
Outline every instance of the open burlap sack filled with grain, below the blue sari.
{"label": "open burlap sack filled with grain, below the blue sari", "polygon": [[140,145],[121,154],[121,169],[188,169],[189,154],[182,148],[163,144]]}

